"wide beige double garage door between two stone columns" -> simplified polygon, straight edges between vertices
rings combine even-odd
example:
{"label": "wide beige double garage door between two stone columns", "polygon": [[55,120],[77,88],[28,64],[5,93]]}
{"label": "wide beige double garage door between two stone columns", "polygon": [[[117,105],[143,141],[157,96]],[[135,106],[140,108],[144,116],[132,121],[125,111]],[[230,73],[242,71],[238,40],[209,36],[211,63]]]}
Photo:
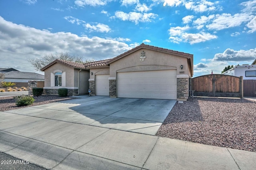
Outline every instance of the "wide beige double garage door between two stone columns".
{"label": "wide beige double garage door between two stone columns", "polygon": [[119,98],[177,99],[176,70],[120,72]]}

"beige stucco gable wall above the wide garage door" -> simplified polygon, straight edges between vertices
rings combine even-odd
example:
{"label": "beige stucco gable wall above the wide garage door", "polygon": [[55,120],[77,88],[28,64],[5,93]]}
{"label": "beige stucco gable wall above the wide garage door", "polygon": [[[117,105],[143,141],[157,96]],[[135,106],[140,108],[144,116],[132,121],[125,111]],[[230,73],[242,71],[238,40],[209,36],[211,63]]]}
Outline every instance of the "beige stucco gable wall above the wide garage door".
{"label": "beige stucco gable wall above the wide garage door", "polygon": [[[146,54],[144,61],[140,60],[142,50]],[[183,65],[182,70],[180,68],[181,65]],[[157,52],[154,50],[140,49],[111,63],[110,77],[116,77],[116,72],[146,70],[177,70],[177,76],[190,75],[187,58]],[[180,71],[184,71],[184,74],[180,74]]]}

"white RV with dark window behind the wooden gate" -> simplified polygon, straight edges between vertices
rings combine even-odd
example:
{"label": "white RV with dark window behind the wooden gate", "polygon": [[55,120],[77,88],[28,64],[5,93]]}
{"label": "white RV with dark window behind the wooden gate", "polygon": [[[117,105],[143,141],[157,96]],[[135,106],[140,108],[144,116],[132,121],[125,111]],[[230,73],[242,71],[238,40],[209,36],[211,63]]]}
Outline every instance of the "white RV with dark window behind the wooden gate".
{"label": "white RV with dark window behind the wooden gate", "polygon": [[[254,61],[256,62],[256,61]],[[252,63],[249,64],[242,64],[242,66],[234,66],[233,68],[229,69],[222,74],[227,74],[230,76],[243,76],[244,80],[256,80],[256,65]]]}

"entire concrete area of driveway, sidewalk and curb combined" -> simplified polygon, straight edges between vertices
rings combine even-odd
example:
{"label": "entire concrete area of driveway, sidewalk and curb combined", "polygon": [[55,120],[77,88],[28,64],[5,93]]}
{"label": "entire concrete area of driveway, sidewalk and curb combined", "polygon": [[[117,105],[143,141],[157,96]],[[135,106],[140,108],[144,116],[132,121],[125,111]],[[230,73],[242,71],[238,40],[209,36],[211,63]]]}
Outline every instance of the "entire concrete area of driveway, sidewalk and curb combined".
{"label": "entire concrete area of driveway, sidewalk and curb combined", "polygon": [[0,152],[53,170],[256,169],[256,152],[151,135],[175,102],[93,96],[0,112]]}

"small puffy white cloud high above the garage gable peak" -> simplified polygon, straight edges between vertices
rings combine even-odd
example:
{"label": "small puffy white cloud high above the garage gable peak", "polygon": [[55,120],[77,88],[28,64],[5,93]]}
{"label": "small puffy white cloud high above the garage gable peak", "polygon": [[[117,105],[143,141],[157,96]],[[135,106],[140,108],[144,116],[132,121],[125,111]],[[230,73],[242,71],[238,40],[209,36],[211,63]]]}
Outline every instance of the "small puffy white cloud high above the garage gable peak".
{"label": "small puffy white cloud high above the garage gable peak", "polygon": [[139,22],[152,22],[152,19],[155,19],[158,15],[153,13],[138,13],[138,12],[129,12],[125,13],[122,11],[116,11],[115,16],[112,16],[110,18],[118,18],[123,21],[131,21],[135,24],[138,24]]}

